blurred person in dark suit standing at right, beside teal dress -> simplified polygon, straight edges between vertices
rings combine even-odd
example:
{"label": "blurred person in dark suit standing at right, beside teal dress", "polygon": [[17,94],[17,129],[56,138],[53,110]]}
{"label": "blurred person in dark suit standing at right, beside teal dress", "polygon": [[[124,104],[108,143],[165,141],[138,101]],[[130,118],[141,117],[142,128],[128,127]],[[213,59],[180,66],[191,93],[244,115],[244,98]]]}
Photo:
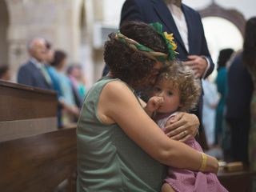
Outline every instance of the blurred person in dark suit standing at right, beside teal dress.
{"label": "blurred person in dark suit standing at right, beside teal dress", "polygon": [[254,85],[250,73],[239,53],[228,71],[228,94],[226,98],[226,122],[231,132],[231,155],[233,161],[248,165],[248,137],[250,130],[250,102]]}

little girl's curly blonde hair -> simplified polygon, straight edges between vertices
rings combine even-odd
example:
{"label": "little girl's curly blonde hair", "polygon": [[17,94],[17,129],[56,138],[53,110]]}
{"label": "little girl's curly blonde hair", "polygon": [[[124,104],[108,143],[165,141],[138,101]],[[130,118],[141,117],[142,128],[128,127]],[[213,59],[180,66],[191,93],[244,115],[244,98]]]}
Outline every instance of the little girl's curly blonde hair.
{"label": "little girl's curly blonde hair", "polygon": [[202,92],[201,81],[195,78],[194,71],[182,62],[174,60],[158,75],[157,82],[168,81],[171,86],[178,88],[181,106],[179,111],[195,110]]}

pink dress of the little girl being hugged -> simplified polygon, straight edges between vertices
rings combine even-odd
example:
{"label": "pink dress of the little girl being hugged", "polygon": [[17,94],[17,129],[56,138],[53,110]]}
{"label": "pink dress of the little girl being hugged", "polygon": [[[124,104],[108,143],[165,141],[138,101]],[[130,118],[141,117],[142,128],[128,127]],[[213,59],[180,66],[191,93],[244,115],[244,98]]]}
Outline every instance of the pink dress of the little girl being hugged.
{"label": "pink dress of the little girl being hugged", "polygon": [[[158,126],[165,130],[166,121],[175,114],[170,114],[166,118],[158,119]],[[186,145],[191,146],[195,150],[202,152],[199,143],[191,138]],[[192,170],[178,169],[170,167],[165,182],[178,192],[226,192],[221,183],[218,181],[216,174],[202,173]]]}

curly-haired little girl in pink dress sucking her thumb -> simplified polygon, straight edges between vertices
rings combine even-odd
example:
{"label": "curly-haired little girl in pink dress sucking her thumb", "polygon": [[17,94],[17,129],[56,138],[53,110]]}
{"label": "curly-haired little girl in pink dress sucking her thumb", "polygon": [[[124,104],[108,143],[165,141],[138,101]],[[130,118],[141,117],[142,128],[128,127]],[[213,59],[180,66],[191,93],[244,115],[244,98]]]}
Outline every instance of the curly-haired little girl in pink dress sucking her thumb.
{"label": "curly-haired little girl in pink dress sucking her thumb", "polygon": [[[194,77],[193,70],[183,66],[182,63],[173,62],[159,74],[154,86],[154,97],[150,98],[146,104],[146,113],[150,116],[153,114],[158,126],[165,131],[166,121],[178,114],[178,111],[193,110],[196,107],[201,91],[201,82]],[[186,132],[183,133],[186,134]],[[190,138],[186,144],[195,150],[202,151],[202,147],[194,138]],[[206,159],[202,159],[202,166],[203,161]],[[218,182],[216,174],[170,167],[162,186],[162,192],[166,191],[223,192],[227,190]]]}

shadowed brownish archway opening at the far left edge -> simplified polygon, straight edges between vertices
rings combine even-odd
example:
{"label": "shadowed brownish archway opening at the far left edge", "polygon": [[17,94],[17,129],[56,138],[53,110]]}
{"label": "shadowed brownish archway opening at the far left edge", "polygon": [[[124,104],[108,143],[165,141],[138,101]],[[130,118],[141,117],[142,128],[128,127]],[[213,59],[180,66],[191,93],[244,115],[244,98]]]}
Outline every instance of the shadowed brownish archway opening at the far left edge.
{"label": "shadowed brownish archway opening at the far left edge", "polygon": [[8,65],[7,30],[9,26],[9,14],[6,1],[0,1],[0,65]]}

